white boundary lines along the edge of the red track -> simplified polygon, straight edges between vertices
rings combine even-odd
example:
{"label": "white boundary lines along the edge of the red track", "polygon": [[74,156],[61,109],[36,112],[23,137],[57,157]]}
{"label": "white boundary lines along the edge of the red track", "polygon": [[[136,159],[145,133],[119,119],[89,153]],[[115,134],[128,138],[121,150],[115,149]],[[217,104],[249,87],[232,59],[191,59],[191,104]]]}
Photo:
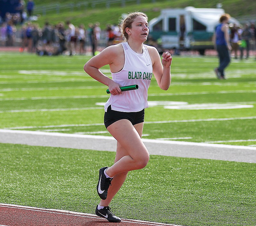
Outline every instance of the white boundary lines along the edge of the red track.
{"label": "white boundary lines along the edge of the red track", "polygon": [[[94,215],[94,214],[80,213],[80,212],[74,212],[74,211],[69,211],[69,210],[45,209],[45,208],[20,206],[20,205],[5,204],[5,203],[0,203],[0,207],[32,210],[32,211],[36,211],[36,212],[44,212],[44,213],[49,213],[49,214],[71,215],[71,216],[88,217],[88,218],[94,218],[94,219],[102,219],[101,217]],[[140,225],[149,224],[149,225],[154,225],[154,226],[182,226],[182,225],[176,225],[176,224],[165,224],[165,223],[157,223],[157,222],[149,222],[149,221],[123,219],[123,218],[122,218],[122,222],[137,223]]]}

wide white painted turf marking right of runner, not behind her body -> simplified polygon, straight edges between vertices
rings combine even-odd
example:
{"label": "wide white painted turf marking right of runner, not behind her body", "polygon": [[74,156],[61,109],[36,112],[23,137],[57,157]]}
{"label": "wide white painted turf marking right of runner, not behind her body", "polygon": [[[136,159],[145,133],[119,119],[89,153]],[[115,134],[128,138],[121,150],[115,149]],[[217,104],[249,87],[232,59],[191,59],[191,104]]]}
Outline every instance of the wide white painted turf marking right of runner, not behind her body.
{"label": "wide white painted turf marking right of runner, not behind her body", "polygon": [[218,103],[218,104],[185,104],[185,105],[172,105],[172,106],[164,106],[164,109],[176,109],[176,110],[207,110],[207,109],[240,109],[240,108],[253,108],[252,104],[226,104],[226,103]]}

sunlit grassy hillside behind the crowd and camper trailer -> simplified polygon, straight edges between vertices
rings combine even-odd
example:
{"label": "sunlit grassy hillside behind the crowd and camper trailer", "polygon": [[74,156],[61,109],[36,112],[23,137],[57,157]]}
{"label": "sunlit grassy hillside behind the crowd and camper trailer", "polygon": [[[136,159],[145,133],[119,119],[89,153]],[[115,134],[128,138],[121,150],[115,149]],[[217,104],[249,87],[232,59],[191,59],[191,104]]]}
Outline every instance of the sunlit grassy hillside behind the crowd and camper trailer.
{"label": "sunlit grassy hillside behind the crowd and camper trailer", "polygon": [[[34,0],[37,8],[40,6],[59,3],[58,1],[44,0],[42,4],[41,0]],[[84,1],[85,2],[85,1]],[[71,20],[74,25],[84,24],[87,26],[89,23],[100,22],[100,27],[105,28],[107,24],[117,24],[118,19],[122,14],[132,11],[143,11],[148,15],[149,20],[157,17],[160,14],[161,9],[164,8],[184,8],[186,6],[194,6],[197,8],[216,8],[219,0],[140,0],[140,4],[137,1],[126,2],[123,7],[121,3],[111,4],[109,8],[106,4],[96,4],[92,7],[88,4],[87,7],[77,7],[78,3],[84,3],[81,0],[62,0],[60,5],[74,3],[74,7],[66,7],[66,9],[60,9],[57,11],[55,6],[52,11],[46,11],[40,13],[38,24],[43,26],[45,21],[51,24],[56,24],[60,21]],[[229,13],[232,17],[242,17],[245,15],[256,14],[256,1],[248,0],[246,4],[243,0],[223,0],[221,2],[222,8],[225,12]]]}

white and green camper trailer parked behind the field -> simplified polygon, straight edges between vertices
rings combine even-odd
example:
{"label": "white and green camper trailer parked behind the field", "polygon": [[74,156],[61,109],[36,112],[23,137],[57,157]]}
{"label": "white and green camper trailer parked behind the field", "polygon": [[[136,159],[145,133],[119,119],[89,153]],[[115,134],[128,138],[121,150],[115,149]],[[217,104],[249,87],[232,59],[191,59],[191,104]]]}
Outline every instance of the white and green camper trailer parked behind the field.
{"label": "white and green camper trailer parked behind the field", "polygon": [[[149,34],[162,49],[195,49],[204,55],[205,49],[213,49],[212,35],[224,13],[223,9],[192,6],[164,9],[149,21]],[[239,25],[234,18],[229,22]]]}

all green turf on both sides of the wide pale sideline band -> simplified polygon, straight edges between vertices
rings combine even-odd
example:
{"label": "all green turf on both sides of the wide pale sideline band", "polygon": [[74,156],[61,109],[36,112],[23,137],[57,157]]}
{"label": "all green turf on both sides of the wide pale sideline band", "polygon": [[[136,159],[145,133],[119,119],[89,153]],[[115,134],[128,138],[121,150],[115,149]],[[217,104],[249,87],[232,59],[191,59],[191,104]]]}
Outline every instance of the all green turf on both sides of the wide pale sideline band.
{"label": "all green turf on both sides of the wide pale sideline band", "polygon": [[[0,128],[109,136],[107,87],[84,73],[89,58],[0,52]],[[255,59],[232,60],[228,80],[216,79],[217,64],[215,56],[173,56],[170,89],[151,81],[144,138],[256,145]],[[110,75],[107,66],[102,71]],[[98,169],[112,164],[114,153],[0,146],[0,203],[94,212]],[[151,156],[129,174],[111,207],[122,218],[253,225],[255,167]]]}

